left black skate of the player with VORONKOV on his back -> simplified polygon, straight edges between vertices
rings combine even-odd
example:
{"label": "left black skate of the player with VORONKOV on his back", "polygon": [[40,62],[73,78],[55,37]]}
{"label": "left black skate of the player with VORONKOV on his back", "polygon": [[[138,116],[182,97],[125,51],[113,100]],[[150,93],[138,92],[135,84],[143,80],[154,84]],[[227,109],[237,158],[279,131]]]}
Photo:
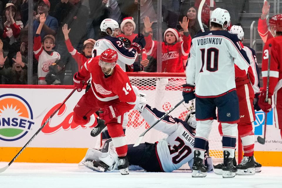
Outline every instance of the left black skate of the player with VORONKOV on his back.
{"label": "left black skate of the player with VORONKOV on his back", "polygon": [[203,159],[200,158],[200,151],[194,151],[194,163],[193,163],[192,177],[206,177],[208,172],[208,167],[204,165]]}

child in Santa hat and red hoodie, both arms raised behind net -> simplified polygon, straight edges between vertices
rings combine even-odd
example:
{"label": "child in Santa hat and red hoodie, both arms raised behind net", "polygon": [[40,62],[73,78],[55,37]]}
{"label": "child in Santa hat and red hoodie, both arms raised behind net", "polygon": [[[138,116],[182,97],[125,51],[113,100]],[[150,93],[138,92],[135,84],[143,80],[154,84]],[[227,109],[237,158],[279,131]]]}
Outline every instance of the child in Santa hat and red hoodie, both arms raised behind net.
{"label": "child in Santa hat and red hoodie, both arms raised behind net", "polygon": [[[188,56],[191,45],[191,36],[188,31],[187,17],[183,17],[182,23],[179,22],[184,30],[183,41],[179,42],[180,35],[176,29],[168,28],[164,32],[164,42],[162,42],[162,72],[169,73],[183,73],[184,65],[182,61],[183,56]],[[145,25],[145,49],[147,55],[157,59],[157,41],[153,41],[149,35],[149,29],[152,26],[152,22],[148,16],[144,19]]]}

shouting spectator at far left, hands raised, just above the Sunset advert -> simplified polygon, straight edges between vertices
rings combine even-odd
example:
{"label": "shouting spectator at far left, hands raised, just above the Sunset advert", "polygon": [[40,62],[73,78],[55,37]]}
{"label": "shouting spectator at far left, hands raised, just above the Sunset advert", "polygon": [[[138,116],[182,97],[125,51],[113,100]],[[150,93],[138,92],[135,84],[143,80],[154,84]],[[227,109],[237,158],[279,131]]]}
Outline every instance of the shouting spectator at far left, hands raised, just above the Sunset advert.
{"label": "shouting spectator at far left, hands raised, just above the Sunset advert", "polygon": [[4,62],[6,58],[0,52],[0,74],[9,80],[5,84],[27,84],[27,59],[21,56],[21,52],[18,52],[14,57],[16,59],[13,58],[12,68],[5,68]]}

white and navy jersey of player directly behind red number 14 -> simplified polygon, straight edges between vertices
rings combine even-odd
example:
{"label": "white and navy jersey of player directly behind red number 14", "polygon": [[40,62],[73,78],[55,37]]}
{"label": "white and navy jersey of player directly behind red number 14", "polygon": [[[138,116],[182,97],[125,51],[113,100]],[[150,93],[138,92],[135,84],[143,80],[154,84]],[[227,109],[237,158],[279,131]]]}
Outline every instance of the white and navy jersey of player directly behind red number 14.
{"label": "white and navy jersey of player directly behind red number 14", "polygon": [[127,49],[120,39],[112,36],[105,36],[95,42],[92,57],[100,56],[108,48],[117,52],[117,64],[125,71],[125,64],[132,65],[138,55],[135,48]]}

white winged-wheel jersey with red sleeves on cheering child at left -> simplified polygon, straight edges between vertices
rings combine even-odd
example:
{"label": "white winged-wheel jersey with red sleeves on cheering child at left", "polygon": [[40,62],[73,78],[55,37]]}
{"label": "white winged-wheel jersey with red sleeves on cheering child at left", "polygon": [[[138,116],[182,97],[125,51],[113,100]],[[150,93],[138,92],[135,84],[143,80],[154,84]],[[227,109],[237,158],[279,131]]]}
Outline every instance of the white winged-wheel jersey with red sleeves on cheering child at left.
{"label": "white winged-wheel jersey with red sleeves on cheering child at left", "polygon": [[36,34],[34,37],[33,51],[36,60],[38,61],[38,85],[47,84],[45,81],[45,76],[49,73],[49,66],[57,59],[61,59],[58,52],[46,52],[41,43],[41,36]]}

